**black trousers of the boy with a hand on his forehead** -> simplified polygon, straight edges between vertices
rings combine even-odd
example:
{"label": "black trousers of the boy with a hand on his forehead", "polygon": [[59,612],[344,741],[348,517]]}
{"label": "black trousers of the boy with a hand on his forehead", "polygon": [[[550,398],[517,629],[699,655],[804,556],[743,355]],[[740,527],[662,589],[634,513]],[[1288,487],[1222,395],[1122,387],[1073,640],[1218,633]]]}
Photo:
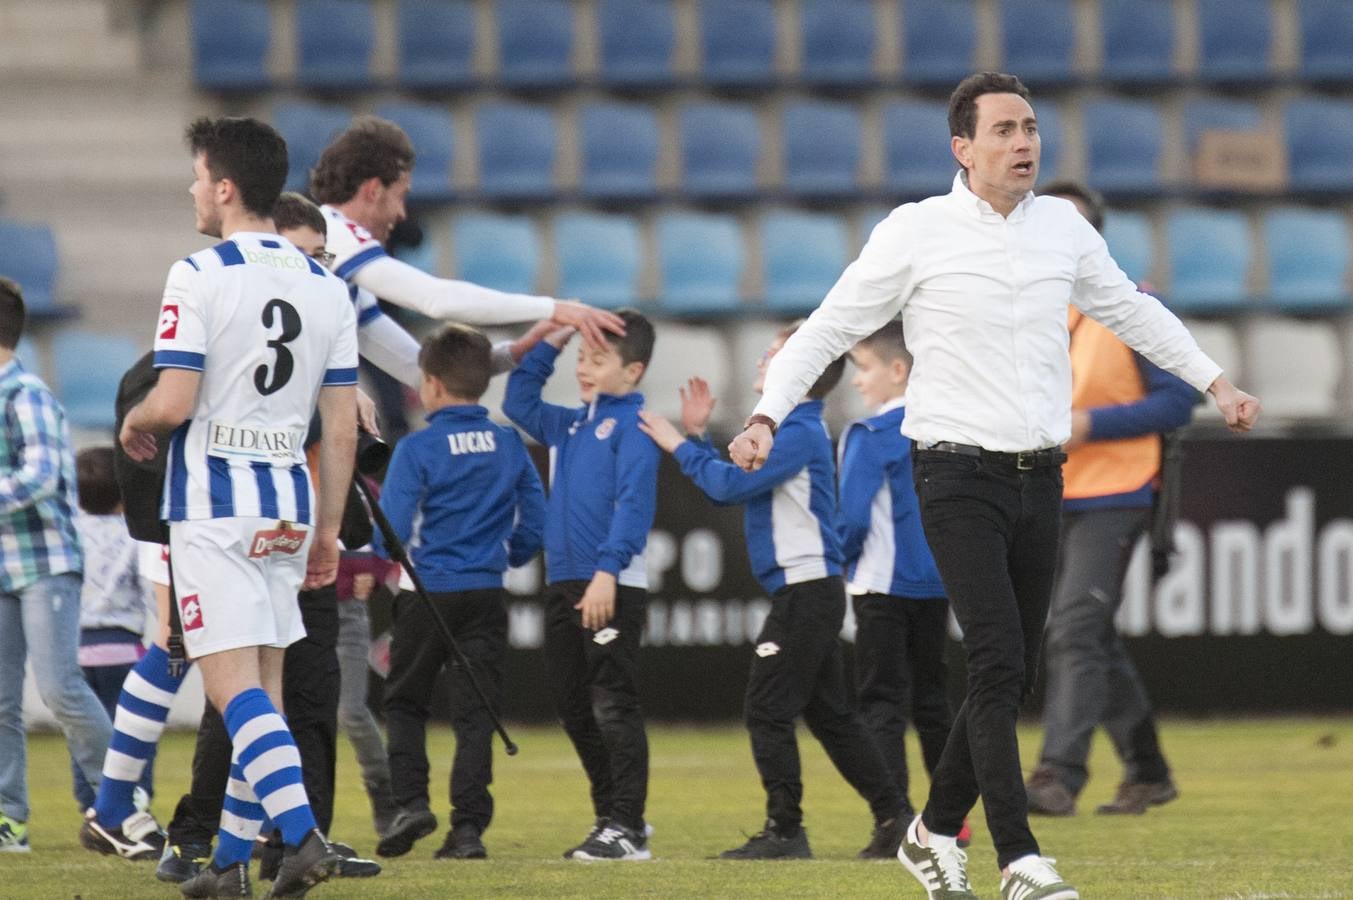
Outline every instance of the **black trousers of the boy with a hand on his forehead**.
{"label": "black trousers of the boy with a hand on his forehead", "polygon": [[593,811],[636,831],[648,801],[648,734],[639,705],[639,639],[648,593],[616,589],[616,616],[599,631],[574,609],[584,581],[545,591],[545,667],[555,711],[591,785]]}

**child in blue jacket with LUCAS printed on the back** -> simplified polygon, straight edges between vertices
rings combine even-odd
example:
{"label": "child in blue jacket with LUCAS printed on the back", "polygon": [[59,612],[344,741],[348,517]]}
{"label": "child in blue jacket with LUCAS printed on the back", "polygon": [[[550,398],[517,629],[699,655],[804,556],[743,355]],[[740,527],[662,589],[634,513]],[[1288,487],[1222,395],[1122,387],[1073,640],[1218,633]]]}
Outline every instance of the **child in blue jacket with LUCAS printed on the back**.
{"label": "child in blue jacket with LUCAS printed on the back", "polygon": [[[494,708],[507,648],[503,571],[540,549],[545,497],[526,445],[495,425],[479,397],[492,375],[492,346],[471,328],[448,325],[418,353],[428,428],[395,447],[380,506],[432,602],[451,625]],[[398,857],[437,828],[428,798],[428,702],[451,648],[432,610],[413,593],[395,600],[386,681],[391,792],[399,812],[377,853]],[[468,677],[452,669],[451,831],[438,859],[482,859],[492,819],[494,725]]]}

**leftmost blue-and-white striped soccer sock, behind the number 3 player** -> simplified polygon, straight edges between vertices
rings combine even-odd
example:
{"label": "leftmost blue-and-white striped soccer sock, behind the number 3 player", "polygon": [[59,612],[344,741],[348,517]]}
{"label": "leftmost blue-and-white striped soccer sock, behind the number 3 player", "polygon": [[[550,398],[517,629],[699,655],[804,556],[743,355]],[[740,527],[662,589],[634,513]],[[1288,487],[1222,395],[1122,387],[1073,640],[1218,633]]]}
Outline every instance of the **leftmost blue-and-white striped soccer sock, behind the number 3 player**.
{"label": "leftmost blue-and-white striped soccer sock, behind the number 3 player", "polygon": [[103,827],[120,828],[122,822],[137,811],[133,792],[146,763],[156,755],[169,705],[185,675],[187,671],[170,675],[169,654],[152,644],[122,682],[118,711],[112,717],[112,742],[103,758],[103,777],[93,801]]}

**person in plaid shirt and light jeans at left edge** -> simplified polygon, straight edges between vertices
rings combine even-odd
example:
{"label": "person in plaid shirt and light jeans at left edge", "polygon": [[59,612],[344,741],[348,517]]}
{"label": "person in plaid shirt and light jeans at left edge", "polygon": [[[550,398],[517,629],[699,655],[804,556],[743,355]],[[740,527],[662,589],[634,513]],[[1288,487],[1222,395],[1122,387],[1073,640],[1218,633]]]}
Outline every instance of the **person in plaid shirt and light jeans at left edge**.
{"label": "person in plaid shirt and light jeans at left edge", "polygon": [[24,659],[91,785],[112,736],[76,662],[84,559],[66,414],[15,359],[24,318],[23,291],[0,277],[0,853],[30,850]]}

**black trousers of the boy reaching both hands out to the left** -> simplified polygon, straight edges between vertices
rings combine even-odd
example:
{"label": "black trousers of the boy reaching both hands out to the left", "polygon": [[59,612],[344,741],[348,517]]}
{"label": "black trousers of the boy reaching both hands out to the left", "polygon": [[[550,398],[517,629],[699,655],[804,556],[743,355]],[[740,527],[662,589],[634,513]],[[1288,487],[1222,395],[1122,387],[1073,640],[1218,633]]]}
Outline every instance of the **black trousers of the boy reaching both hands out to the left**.
{"label": "black trousers of the boy reaching both hands out to the left", "polygon": [[766,817],[779,834],[796,834],[804,822],[798,716],[842,777],[869,801],[874,819],[904,811],[878,744],[851,706],[839,637],[844,618],[842,579],[821,578],[778,590],[756,636],[743,712],[766,790]]}

